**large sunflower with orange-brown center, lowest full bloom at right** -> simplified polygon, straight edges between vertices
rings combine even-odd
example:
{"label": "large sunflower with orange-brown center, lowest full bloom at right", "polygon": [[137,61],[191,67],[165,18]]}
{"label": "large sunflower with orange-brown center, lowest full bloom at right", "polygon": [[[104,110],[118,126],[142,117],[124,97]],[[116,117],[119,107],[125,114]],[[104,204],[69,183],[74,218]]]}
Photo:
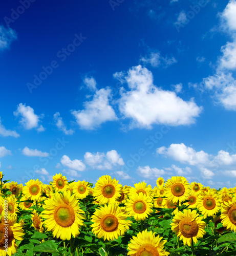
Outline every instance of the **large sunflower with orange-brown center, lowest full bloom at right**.
{"label": "large sunflower with orange-brown center, lowest full bloom at right", "polygon": [[191,246],[191,242],[198,243],[198,238],[202,238],[205,233],[206,223],[202,221],[196,210],[184,209],[179,211],[173,218],[171,229],[176,232],[177,237],[183,240],[184,245]]}

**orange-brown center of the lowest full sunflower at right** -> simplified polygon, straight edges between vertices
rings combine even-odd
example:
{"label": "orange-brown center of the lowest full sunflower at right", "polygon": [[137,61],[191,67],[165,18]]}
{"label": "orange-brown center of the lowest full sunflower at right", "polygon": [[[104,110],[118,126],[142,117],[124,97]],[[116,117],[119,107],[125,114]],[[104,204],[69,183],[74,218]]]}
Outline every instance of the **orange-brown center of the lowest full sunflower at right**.
{"label": "orange-brown center of the lowest full sunflower at right", "polygon": [[179,229],[185,238],[192,238],[197,236],[199,227],[197,221],[191,221],[191,218],[185,217],[179,222]]}

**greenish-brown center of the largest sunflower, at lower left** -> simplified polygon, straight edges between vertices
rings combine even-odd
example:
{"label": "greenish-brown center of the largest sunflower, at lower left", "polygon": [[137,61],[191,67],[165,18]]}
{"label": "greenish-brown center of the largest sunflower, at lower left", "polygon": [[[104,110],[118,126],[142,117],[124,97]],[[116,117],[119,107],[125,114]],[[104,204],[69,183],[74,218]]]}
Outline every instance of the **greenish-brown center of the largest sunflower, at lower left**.
{"label": "greenish-brown center of the largest sunflower, at lower left", "polygon": [[54,211],[54,219],[61,227],[70,227],[75,222],[75,212],[72,206],[60,204]]}

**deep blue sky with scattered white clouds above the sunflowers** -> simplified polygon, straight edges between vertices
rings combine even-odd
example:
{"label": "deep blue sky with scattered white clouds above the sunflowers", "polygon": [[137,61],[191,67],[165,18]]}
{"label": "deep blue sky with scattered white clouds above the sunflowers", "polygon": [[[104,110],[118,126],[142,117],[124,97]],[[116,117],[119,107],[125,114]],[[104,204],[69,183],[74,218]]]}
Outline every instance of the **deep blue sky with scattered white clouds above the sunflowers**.
{"label": "deep blue sky with scattered white clouds above the sunflowers", "polygon": [[236,1],[8,1],[6,179],[236,185]]}

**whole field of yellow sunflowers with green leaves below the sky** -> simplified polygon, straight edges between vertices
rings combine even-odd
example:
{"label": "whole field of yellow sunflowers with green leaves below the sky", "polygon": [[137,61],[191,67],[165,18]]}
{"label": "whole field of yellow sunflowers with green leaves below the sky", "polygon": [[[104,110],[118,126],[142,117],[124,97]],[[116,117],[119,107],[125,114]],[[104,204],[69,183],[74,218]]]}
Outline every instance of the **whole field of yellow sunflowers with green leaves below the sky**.
{"label": "whole field of yellow sunflowers with green leaves below the sky", "polygon": [[236,255],[236,187],[0,179],[0,256]]}

